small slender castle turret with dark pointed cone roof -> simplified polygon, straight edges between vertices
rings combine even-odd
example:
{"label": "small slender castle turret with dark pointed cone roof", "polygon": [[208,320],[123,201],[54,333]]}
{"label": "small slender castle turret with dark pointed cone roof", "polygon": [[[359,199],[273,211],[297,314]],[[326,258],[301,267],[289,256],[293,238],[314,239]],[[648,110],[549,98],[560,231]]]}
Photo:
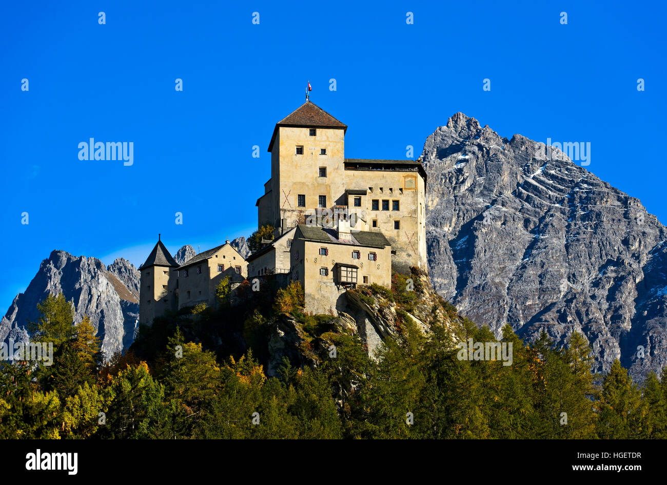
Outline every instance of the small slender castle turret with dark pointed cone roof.
{"label": "small slender castle turret with dark pointed cone roof", "polygon": [[171,257],[160,236],[144,264],[139,267],[139,324],[152,325],[153,318],[165,310],[177,308],[177,262]]}

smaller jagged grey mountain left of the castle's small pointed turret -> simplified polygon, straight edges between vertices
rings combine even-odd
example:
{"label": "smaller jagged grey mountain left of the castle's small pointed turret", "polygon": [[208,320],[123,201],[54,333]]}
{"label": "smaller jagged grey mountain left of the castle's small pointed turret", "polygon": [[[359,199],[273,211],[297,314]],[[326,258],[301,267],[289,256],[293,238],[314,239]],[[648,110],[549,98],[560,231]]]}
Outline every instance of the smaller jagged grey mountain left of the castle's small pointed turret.
{"label": "smaller jagged grey mountain left of the castle's small pointed turret", "polygon": [[97,258],[77,258],[64,251],[53,251],[0,321],[0,341],[9,337],[27,340],[25,326],[39,318],[37,304],[48,294],[63,293],[73,302],[76,323],[89,316],[101,338],[105,358],[109,359],[134,340],[139,322],[138,273],[122,258],[107,268]]}

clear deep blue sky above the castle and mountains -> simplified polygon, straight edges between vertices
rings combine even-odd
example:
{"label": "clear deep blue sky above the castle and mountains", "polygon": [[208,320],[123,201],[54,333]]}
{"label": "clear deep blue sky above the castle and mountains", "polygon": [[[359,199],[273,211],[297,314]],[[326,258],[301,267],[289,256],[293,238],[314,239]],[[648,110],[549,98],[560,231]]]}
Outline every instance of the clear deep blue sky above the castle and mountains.
{"label": "clear deep blue sky above the castle and mountains", "polygon": [[[249,235],[273,125],[308,79],[348,125],[348,157],[418,156],[462,111],[506,137],[590,142],[587,168],[665,223],[665,14],[614,1],[5,3],[0,313],[54,249],[138,266],[157,233],[172,251]],[[79,160],[91,137],[132,141],[133,165]]]}

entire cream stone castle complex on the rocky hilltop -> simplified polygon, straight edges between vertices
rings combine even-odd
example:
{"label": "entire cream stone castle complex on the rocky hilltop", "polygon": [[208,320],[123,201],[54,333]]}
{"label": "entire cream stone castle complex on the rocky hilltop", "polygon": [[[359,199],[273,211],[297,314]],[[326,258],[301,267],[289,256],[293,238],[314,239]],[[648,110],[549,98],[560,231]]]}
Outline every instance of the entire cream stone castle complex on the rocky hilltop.
{"label": "entire cream stone castle complex on the rocky hilltop", "polygon": [[257,199],[273,240],[243,259],[227,241],[179,266],[158,239],[141,265],[139,322],[206,303],[225,276],[299,281],[305,310],[342,310],[348,288],[391,287],[392,269],[426,270],[426,171],[421,161],[345,158],[348,127],[306,101],[276,123],[271,178]]}

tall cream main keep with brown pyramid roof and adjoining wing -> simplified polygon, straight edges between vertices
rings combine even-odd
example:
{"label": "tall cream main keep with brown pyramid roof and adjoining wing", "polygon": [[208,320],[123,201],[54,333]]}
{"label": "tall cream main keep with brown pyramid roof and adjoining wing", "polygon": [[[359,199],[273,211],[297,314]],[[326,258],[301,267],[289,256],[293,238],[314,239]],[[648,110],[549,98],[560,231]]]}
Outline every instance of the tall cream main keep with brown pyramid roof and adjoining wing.
{"label": "tall cream main keep with brown pyramid roof and adjoining wing", "polygon": [[[298,224],[333,228],[336,211],[345,211],[352,237],[358,231],[382,232],[390,241],[394,270],[426,270],[421,161],[346,158],[347,129],[311,101],[276,123],[268,150],[271,178],[256,204],[258,225],[273,225],[277,238]],[[309,217],[320,209],[328,209],[326,218]]]}

